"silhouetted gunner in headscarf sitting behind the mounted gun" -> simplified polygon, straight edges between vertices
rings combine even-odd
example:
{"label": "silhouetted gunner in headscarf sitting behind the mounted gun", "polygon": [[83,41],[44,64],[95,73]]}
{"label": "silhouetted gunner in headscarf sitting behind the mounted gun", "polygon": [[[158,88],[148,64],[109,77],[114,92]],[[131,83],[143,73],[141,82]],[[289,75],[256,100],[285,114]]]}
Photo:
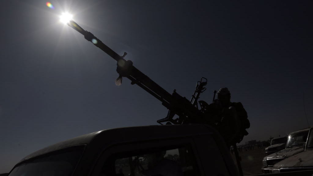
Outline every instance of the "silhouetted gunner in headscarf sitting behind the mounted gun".
{"label": "silhouetted gunner in headscarf sitting behind the mounted gun", "polygon": [[208,105],[205,112],[208,117],[208,124],[215,124],[218,131],[225,139],[228,147],[242,141],[248,135],[246,131],[250,127],[247,112],[240,102],[230,101],[228,88],[221,88],[217,94],[217,99]]}

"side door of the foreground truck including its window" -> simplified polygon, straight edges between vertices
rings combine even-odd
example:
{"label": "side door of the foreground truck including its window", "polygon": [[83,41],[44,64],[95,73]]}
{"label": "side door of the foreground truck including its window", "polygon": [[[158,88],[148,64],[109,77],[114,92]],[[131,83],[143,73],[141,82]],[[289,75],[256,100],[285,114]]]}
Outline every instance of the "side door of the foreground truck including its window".
{"label": "side door of the foreground truck including its window", "polygon": [[204,175],[192,137],[125,142],[105,149],[92,176]]}

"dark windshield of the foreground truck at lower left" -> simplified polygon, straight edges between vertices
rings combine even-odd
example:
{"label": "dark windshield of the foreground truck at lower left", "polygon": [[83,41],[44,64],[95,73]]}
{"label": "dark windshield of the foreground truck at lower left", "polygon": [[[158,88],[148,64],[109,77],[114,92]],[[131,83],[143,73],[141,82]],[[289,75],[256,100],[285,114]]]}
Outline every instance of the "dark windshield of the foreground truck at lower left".
{"label": "dark windshield of the foreground truck at lower left", "polygon": [[70,176],[85,146],[75,146],[30,159],[15,167],[9,176]]}

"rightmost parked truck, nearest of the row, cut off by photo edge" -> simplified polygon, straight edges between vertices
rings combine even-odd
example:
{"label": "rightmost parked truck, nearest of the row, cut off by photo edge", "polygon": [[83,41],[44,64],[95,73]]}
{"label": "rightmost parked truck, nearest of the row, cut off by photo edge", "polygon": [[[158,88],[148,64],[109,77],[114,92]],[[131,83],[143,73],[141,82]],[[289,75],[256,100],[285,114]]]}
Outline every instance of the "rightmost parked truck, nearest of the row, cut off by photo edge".
{"label": "rightmost parked truck, nearest of the row, cut off by photo edge", "polygon": [[313,127],[310,128],[307,142],[304,144],[304,151],[291,156],[273,167],[273,172],[290,172],[313,169]]}

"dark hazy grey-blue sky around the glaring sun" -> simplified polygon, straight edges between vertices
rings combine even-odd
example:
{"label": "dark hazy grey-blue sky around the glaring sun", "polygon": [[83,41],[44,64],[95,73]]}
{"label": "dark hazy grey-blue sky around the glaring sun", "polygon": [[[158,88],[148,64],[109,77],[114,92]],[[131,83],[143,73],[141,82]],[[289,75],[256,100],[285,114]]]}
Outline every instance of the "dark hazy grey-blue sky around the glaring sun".
{"label": "dark hazy grey-blue sky around the glaring sun", "polygon": [[[59,22],[62,12],[166,91],[199,100],[228,87],[249,140],[313,125],[312,1],[41,0],[0,2],[0,173],[48,145],[102,129],[157,125],[161,102]],[[304,111],[304,105],[305,110]]]}

